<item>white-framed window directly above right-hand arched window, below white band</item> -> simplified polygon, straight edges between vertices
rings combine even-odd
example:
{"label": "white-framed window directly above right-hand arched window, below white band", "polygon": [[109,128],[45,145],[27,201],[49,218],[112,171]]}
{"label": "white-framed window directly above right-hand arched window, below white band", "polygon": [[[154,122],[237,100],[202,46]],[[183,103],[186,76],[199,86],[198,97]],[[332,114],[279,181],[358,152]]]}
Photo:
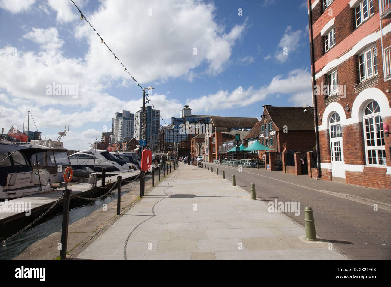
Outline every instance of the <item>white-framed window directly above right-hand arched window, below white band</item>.
{"label": "white-framed window directly above right-hand arched window, below white band", "polygon": [[[366,48],[361,53],[359,53],[360,82],[364,82],[369,78],[375,77],[379,74],[377,55],[378,49],[376,46],[370,46],[369,48]],[[364,76],[362,76],[362,71],[364,71]],[[369,71],[371,75],[369,75]]]}

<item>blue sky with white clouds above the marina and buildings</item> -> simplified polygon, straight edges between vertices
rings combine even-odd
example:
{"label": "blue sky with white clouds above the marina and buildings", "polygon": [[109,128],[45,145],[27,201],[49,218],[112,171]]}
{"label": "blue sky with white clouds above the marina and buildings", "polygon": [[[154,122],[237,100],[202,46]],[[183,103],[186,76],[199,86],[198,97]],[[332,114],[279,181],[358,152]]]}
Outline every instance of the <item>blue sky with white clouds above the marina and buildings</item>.
{"label": "blue sky with white clouds above the marina and buildings", "polygon": [[31,111],[43,139],[69,125],[64,146],[87,149],[148,86],[161,125],[184,105],[256,118],[263,105],[312,105],[307,0],[74,2],[117,59],[71,0],[0,0],[5,132],[27,130]]}

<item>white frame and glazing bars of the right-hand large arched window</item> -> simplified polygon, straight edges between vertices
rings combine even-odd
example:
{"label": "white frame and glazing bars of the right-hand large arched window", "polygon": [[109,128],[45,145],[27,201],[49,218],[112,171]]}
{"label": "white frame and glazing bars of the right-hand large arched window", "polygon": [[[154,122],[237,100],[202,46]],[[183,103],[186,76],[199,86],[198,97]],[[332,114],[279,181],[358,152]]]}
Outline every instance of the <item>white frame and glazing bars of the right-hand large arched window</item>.
{"label": "white frame and glazing bars of the right-hand large arched window", "polygon": [[[377,129],[378,127],[376,127],[376,121],[375,121],[375,118],[379,117],[380,120],[382,120],[381,118],[381,115],[380,115],[380,110],[378,112],[374,112],[374,113],[371,113],[371,114],[368,114],[366,115],[365,114],[365,111],[368,107],[368,105],[370,103],[377,103],[376,101],[373,101],[373,100],[370,100],[368,101],[365,105],[364,105],[364,110],[362,111],[362,125],[363,125],[363,137],[364,137],[364,144],[365,144],[365,160],[366,160],[366,165],[367,166],[377,166],[377,167],[381,167],[381,168],[385,168],[387,167],[387,162],[386,162],[386,156],[384,156],[384,164],[379,164],[379,151],[381,150],[382,152],[386,152],[386,147],[385,145],[381,145],[381,141],[383,139],[384,141],[384,131],[383,131],[383,125],[382,125],[382,122],[379,121],[378,123],[378,127],[380,127],[380,138],[378,137],[378,132],[377,132]],[[378,104],[378,103],[377,103]],[[380,109],[380,105],[379,105],[379,109]],[[366,119],[372,119],[372,123],[369,123],[369,126],[372,126],[373,127],[373,141],[374,141],[374,145],[371,145],[371,146],[368,146],[368,143],[367,143],[367,132],[366,132]],[[371,130],[370,130],[370,133],[371,133]],[[382,134],[383,134],[383,137],[382,137]],[[371,140],[372,137],[369,139]],[[378,145],[378,140],[380,139],[380,145]],[[370,164],[369,163],[369,159],[368,159],[368,152],[371,151],[371,153],[375,152],[375,159],[376,159],[376,164]]]}

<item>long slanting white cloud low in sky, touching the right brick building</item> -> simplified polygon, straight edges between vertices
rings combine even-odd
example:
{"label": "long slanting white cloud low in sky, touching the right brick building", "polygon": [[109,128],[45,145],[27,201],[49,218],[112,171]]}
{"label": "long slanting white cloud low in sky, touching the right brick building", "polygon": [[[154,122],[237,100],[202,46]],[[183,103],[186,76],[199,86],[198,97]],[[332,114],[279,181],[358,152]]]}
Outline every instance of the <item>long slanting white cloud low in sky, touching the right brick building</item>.
{"label": "long slanting white cloud low in sky, touching the right brick building", "polygon": [[311,102],[310,73],[307,70],[293,70],[286,77],[277,75],[268,86],[260,89],[249,87],[248,89],[243,89],[242,94],[239,94],[238,89],[231,93],[220,90],[215,94],[188,100],[187,105],[190,105],[195,112],[208,112],[213,109],[248,107],[264,100],[269,95],[278,95],[280,97],[280,94],[289,95],[289,102],[297,106]]}

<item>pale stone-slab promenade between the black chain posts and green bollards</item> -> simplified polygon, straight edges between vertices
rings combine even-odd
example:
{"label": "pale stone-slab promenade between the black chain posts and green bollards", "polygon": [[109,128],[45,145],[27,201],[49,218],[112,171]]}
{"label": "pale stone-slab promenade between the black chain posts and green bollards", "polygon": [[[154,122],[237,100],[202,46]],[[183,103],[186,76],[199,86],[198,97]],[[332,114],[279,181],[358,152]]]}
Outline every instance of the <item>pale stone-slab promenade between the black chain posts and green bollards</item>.
{"label": "pale stone-slab promenade between the black chain posts and green bollards", "polygon": [[[304,206],[301,206],[303,212]],[[316,219],[316,218],[315,218]],[[315,222],[316,224],[316,222]],[[179,165],[89,245],[93,260],[346,260],[215,171]],[[77,256],[75,256],[77,255]]]}

